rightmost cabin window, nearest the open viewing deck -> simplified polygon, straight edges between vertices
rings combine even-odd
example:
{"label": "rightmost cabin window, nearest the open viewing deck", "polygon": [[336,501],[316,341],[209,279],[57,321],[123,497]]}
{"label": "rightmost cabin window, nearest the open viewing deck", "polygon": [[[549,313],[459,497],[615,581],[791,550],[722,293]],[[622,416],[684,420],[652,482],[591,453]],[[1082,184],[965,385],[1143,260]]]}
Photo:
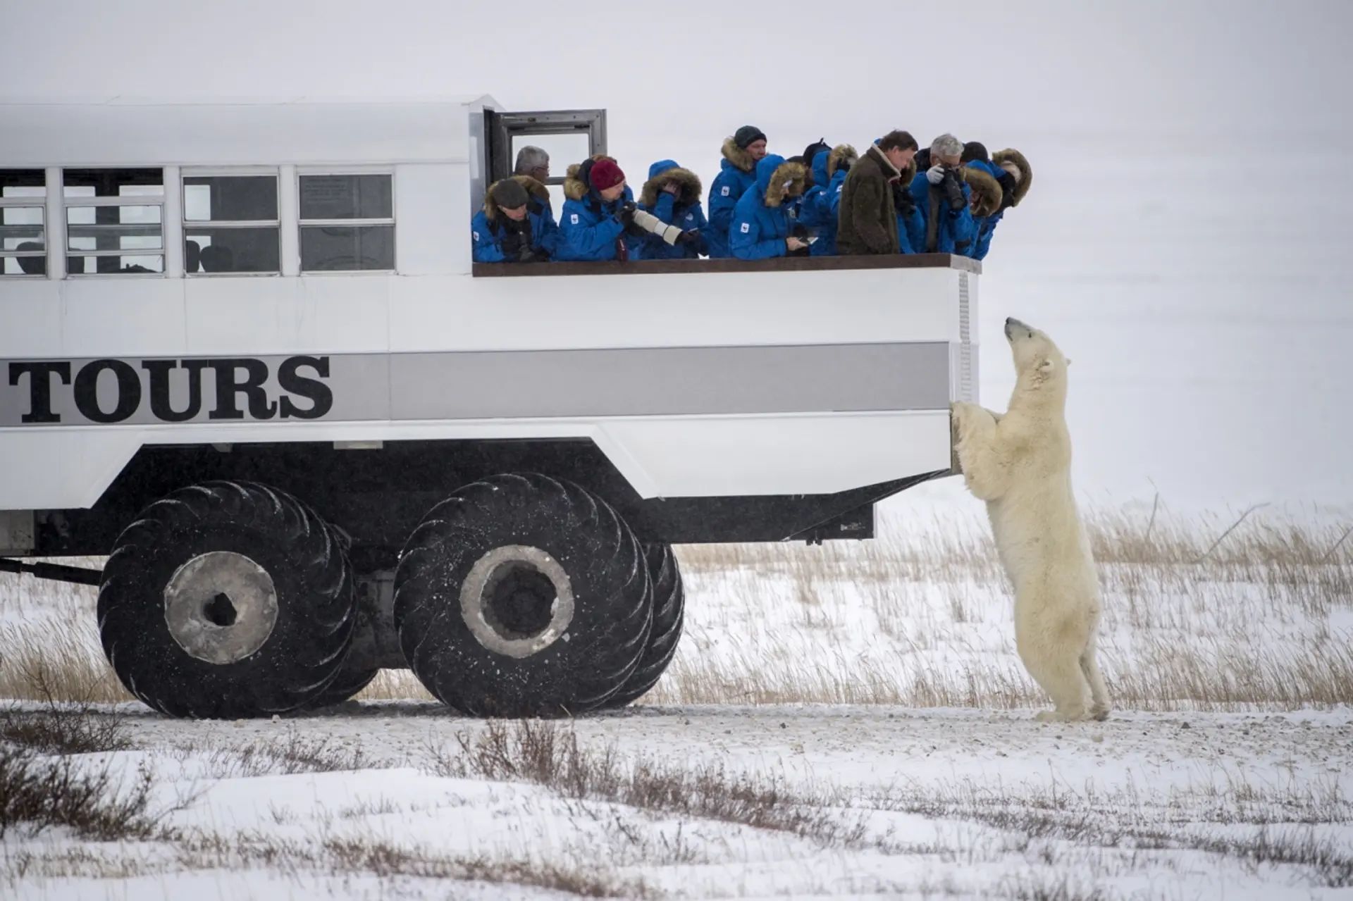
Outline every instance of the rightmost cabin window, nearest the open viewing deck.
{"label": "rightmost cabin window, nearest the open viewing deck", "polygon": [[394,176],[300,176],[302,272],[394,268]]}

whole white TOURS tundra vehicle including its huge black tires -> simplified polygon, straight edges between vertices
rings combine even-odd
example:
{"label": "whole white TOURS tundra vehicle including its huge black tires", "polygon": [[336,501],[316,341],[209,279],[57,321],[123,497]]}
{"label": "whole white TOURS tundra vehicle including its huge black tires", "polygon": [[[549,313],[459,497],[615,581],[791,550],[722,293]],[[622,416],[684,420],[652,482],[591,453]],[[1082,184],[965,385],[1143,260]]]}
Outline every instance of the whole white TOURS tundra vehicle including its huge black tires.
{"label": "whole white TOURS tundra vehicle including its huge black tires", "polygon": [[[977,400],[971,260],[474,264],[517,146],[561,172],[599,110],[0,122],[0,570],[97,584],[169,716],[383,667],[469,716],[629,703],[681,636],[671,545],[870,538]],[[107,563],[26,561],[78,555]]]}

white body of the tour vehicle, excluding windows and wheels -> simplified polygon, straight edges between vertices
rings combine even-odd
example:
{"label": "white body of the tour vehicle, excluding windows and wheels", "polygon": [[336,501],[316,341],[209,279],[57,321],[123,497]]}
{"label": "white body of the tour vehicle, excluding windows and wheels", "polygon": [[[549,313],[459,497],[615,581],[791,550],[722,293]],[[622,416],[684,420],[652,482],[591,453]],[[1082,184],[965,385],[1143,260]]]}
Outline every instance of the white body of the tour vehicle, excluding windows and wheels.
{"label": "white body of the tour vehicle, excluding windows and wheels", "polygon": [[[977,399],[977,264],[543,264],[486,277],[469,219],[495,108],[0,107],[0,169],[41,169],[46,184],[46,273],[0,277],[0,553],[41,551],[41,511],[95,507],[161,445],[583,440],[644,501],[829,495],[950,469],[948,405]],[[161,207],[162,272],[66,271],[77,202],[61,185],[76,168],[162,169],[162,196],[146,202]],[[277,271],[185,273],[183,180],[249,173],[276,176]],[[303,272],[300,180],[348,173],[391,176],[394,267]],[[572,273],[587,265],[616,271]],[[245,360],[261,361],[261,382],[237,369]],[[192,415],[157,417],[153,361],[169,361],[169,409]]]}

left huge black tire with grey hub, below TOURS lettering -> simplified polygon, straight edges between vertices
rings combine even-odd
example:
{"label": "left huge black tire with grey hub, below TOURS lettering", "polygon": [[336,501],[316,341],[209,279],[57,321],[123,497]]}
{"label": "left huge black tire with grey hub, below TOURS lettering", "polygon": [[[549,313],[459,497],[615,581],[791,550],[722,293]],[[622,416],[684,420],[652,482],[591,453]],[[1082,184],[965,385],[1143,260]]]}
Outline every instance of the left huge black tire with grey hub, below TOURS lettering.
{"label": "left huge black tire with grey hub, below TOURS lettering", "polygon": [[338,675],[354,614],[352,567],[329,526],[249,482],[152,503],[118,536],[99,588],[118,678],[175,717],[303,706]]}

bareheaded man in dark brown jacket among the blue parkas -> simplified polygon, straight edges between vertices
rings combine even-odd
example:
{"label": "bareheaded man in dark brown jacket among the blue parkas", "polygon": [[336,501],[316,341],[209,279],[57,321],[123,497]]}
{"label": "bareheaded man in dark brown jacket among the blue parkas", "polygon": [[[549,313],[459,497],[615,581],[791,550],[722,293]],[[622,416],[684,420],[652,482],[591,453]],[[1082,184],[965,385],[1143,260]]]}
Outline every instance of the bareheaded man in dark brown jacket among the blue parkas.
{"label": "bareheaded man in dark brown jacket among the blue parkas", "polygon": [[907,184],[916,138],[893,130],[875,141],[842,183],[836,249],[842,254],[898,253],[893,184]]}

